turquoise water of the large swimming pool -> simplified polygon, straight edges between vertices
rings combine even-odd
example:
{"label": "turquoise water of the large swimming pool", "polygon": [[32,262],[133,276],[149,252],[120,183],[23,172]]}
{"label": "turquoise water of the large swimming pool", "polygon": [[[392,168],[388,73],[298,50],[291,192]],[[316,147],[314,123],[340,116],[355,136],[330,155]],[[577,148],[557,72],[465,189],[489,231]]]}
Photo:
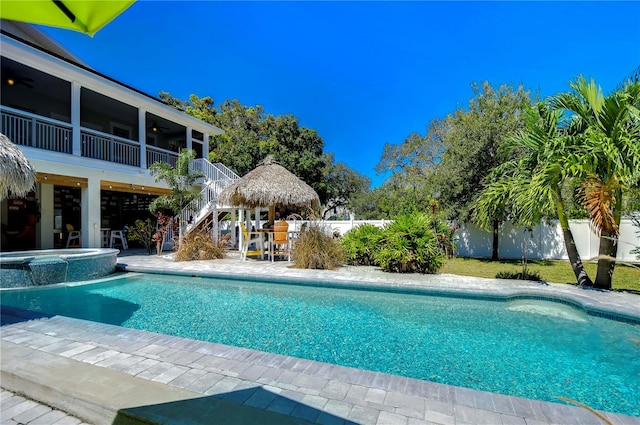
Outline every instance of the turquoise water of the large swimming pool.
{"label": "turquoise water of the large swimming pool", "polygon": [[138,275],[2,304],[640,416],[640,326],[549,301]]}

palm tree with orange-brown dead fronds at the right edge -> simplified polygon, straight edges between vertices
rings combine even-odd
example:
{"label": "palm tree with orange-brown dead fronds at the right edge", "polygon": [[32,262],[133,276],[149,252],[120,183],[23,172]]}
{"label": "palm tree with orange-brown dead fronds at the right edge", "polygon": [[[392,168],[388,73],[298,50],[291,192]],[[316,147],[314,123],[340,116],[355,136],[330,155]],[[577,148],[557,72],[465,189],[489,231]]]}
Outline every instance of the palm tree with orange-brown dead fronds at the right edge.
{"label": "palm tree with orange-brown dead fronds at the right edge", "polygon": [[569,173],[580,178],[580,198],[600,235],[595,287],[611,289],[625,192],[640,180],[640,81],[636,75],[608,96],[579,76],[571,92],[551,99],[570,114]]}

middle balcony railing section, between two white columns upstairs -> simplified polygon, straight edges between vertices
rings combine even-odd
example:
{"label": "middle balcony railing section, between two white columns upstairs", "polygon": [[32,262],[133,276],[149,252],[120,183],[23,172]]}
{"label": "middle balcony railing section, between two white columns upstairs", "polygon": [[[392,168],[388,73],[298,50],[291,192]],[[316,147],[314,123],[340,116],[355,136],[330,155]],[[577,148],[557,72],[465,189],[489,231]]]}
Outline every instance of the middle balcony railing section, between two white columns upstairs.
{"label": "middle balcony railing section, between two white columns upstairs", "polygon": [[87,158],[140,166],[140,146],[128,139],[83,129],[80,132],[81,155]]}

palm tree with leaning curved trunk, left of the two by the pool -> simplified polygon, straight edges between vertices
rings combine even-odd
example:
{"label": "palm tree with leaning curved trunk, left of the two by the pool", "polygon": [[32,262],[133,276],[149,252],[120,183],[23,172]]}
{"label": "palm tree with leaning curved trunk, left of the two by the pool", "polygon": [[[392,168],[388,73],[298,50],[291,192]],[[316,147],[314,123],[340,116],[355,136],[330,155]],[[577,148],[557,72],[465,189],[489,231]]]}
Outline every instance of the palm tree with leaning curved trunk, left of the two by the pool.
{"label": "palm tree with leaning curved trunk, left of the two by the pool", "polygon": [[[580,285],[592,285],[578,253],[565,213],[562,185],[570,176],[567,152],[575,149],[558,126],[562,113],[538,103],[525,110],[524,129],[507,139],[509,160],[488,176],[473,206],[476,224],[491,228],[496,220],[532,227],[543,218],[558,217],[569,262]],[[570,158],[570,157],[569,157]]]}

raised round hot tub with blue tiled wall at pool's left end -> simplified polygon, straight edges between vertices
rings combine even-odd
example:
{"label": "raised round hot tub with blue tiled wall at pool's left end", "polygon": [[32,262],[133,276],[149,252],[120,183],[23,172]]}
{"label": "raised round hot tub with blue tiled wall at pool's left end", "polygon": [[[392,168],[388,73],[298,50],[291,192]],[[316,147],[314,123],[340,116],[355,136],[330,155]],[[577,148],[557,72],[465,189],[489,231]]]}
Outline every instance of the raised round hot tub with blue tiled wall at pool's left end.
{"label": "raised round hot tub with blue tiled wall at pool's left end", "polygon": [[0,253],[0,288],[96,279],[114,273],[117,249],[46,249]]}

